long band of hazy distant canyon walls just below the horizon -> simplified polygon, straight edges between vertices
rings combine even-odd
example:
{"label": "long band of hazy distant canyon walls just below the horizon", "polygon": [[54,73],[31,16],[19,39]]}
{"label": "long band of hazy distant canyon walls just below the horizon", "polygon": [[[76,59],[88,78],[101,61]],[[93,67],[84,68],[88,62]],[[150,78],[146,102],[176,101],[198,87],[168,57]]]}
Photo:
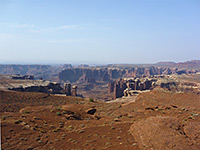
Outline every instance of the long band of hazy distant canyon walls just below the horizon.
{"label": "long band of hazy distant canyon walls just below the horizon", "polygon": [[[172,66],[173,67],[173,66]],[[73,68],[70,64],[65,65],[0,65],[0,74],[19,74],[19,75],[34,75],[35,79],[43,78],[59,82],[62,81],[84,81],[87,83],[95,83],[96,81],[109,82],[120,77],[141,77],[150,75],[169,75],[169,74],[190,74],[197,70],[186,70],[172,67],[159,66],[138,66],[127,67],[81,67]]]}

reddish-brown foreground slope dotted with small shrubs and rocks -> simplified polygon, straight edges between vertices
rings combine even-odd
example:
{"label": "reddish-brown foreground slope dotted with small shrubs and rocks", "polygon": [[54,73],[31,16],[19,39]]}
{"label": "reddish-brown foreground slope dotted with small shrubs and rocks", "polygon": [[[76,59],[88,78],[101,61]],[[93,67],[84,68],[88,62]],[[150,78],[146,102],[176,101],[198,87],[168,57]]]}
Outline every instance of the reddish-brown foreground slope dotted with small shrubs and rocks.
{"label": "reddish-brown foreground slope dotted with small shrubs and rocks", "polygon": [[2,150],[200,149],[200,94],[161,89],[102,103],[1,91]]}

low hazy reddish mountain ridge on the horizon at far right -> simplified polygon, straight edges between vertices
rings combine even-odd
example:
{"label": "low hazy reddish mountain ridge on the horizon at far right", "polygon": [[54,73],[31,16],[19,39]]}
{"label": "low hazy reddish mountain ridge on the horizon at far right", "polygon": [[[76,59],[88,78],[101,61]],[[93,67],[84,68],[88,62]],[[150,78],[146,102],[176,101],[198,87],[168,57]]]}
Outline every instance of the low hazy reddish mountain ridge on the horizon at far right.
{"label": "low hazy reddish mountain ridge on the horizon at far right", "polygon": [[177,68],[190,68],[190,69],[200,69],[200,60],[191,60],[186,62],[158,62],[157,66],[162,67],[177,67]]}

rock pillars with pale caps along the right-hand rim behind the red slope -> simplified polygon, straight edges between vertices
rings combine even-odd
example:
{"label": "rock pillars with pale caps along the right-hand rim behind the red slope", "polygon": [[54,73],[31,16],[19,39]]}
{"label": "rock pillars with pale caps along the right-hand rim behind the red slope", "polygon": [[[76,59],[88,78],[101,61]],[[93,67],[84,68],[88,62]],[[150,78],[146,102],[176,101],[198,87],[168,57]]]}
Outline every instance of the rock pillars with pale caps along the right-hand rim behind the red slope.
{"label": "rock pillars with pale caps along the right-hand rim behind the red slope", "polygon": [[113,99],[122,96],[133,96],[145,90],[163,88],[170,92],[199,93],[200,85],[195,82],[180,82],[170,75],[157,75],[141,78],[120,78],[108,83],[108,94],[113,94]]}

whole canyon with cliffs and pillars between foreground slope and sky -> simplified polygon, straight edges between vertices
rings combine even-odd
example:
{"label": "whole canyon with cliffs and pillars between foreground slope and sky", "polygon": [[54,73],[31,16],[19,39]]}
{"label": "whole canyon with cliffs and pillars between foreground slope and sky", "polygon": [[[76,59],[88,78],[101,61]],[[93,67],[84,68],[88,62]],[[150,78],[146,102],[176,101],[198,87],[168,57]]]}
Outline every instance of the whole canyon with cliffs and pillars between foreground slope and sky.
{"label": "whole canyon with cliffs and pillars between foreground slope and sky", "polygon": [[[174,85],[180,83],[173,81],[160,81],[169,76],[184,76],[197,74],[200,61],[182,63],[159,62],[146,65],[110,64],[90,67],[82,64],[65,65],[0,65],[0,73],[4,75],[15,74],[14,80],[34,80],[37,85],[15,85],[7,87],[16,91],[44,92],[51,94],[81,95],[94,99],[112,100],[126,95],[134,95],[155,87]],[[188,68],[189,67],[189,68]],[[158,84],[158,79],[159,83]],[[47,82],[46,82],[47,80]],[[18,81],[19,82],[19,81]],[[72,85],[72,86],[71,86]],[[69,92],[71,87],[72,93]],[[170,89],[168,87],[168,89]],[[180,89],[180,88],[179,88]]]}

